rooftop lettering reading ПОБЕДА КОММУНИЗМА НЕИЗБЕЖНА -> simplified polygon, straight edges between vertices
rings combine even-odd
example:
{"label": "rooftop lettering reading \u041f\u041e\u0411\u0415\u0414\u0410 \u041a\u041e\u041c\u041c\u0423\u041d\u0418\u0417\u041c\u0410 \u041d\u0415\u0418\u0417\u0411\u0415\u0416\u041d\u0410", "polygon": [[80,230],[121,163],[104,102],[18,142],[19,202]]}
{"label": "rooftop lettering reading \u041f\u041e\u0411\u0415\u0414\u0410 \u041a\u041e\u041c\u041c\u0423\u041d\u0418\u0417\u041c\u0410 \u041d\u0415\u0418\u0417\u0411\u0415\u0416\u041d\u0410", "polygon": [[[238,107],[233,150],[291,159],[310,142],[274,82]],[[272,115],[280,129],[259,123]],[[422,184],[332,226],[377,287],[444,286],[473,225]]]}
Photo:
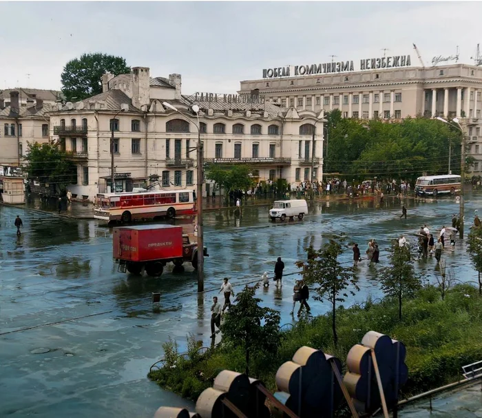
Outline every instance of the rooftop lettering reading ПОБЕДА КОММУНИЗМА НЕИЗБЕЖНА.
{"label": "rooftop lettering reading \u041f\u041e\u0411\u0415\u0414\u0410 \u041a\u041e\u041c\u041c\u0423\u041d\u0418\u0417\u041c\u0410 \u041d\u0415\u0418\u0417\u0411\u0415\u0416\u041d\u0410", "polygon": [[[360,60],[360,70],[376,70],[379,68],[410,67],[410,55],[396,55],[393,57],[368,58]],[[311,64],[308,66],[284,66],[278,68],[265,68],[264,79],[277,77],[296,77],[312,74],[332,74],[336,72],[355,71],[353,61],[338,61],[322,64]]]}

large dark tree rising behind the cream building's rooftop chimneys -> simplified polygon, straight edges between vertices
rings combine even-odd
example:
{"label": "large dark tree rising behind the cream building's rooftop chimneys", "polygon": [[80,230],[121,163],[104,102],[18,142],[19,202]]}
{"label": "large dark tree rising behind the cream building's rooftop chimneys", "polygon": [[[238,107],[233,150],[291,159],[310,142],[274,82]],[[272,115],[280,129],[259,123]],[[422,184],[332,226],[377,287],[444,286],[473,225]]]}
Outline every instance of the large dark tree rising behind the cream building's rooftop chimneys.
{"label": "large dark tree rising behind the cream building's rooftop chimneys", "polygon": [[102,92],[102,75],[128,74],[131,68],[122,57],[101,53],[82,54],[65,64],[61,75],[62,92],[67,101],[83,100]]}

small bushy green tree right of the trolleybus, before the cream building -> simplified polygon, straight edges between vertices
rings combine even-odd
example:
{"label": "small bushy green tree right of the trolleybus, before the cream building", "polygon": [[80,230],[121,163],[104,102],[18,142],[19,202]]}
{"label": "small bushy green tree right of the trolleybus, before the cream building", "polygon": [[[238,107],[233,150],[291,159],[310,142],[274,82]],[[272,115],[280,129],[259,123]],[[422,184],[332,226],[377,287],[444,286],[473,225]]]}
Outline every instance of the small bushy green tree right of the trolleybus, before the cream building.
{"label": "small bushy green tree right of the trolleybus, before the cream building", "polygon": [[206,178],[213,180],[224,190],[224,195],[235,190],[248,190],[253,187],[249,166],[218,166],[213,164],[206,170]]}

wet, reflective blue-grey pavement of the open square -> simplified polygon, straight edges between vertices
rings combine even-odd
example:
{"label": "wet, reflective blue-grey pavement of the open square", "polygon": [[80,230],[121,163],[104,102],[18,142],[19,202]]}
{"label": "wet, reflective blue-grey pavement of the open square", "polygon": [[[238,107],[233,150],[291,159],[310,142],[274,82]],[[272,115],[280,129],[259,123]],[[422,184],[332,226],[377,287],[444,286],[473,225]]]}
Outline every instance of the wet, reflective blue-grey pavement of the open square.
{"label": "wet, reflective blue-grey pavement of the open square", "polygon": [[[465,203],[466,223],[482,206],[482,195]],[[161,390],[146,375],[163,356],[162,344],[172,337],[180,352],[193,332],[206,346],[211,298],[222,277],[231,277],[235,291],[271,275],[277,257],[286,265],[284,286],[259,291],[262,303],[281,311],[282,324],[291,324],[295,261],[304,248],[319,246],[333,233],[357,241],[362,255],[368,239],[381,248],[386,266],[389,240],[415,233],[426,223],[431,232],[450,225],[459,207],[448,197],[439,201],[403,201],[408,219],[400,220],[402,201],[330,201],[315,203],[304,221],[271,223],[265,206],[207,212],[205,245],[206,292],[196,294],[190,266],[174,274],[167,268],[152,279],[117,272],[112,261],[112,230],[92,219],[65,219],[21,208],[0,206],[0,416],[152,417],[158,406],[191,406]],[[15,236],[15,215],[24,223]],[[179,224],[192,226],[189,220]],[[412,241],[415,241],[415,237]],[[463,243],[443,257],[457,266],[462,281],[476,280]],[[352,263],[347,248],[342,261]],[[417,261],[417,268],[434,281],[435,260]],[[372,280],[375,268],[359,266],[362,290],[347,305],[374,299],[381,292]],[[153,309],[151,292],[160,291],[160,309]],[[314,315],[328,306],[310,299]],[[218,337],[219,339],[220,337]]]}

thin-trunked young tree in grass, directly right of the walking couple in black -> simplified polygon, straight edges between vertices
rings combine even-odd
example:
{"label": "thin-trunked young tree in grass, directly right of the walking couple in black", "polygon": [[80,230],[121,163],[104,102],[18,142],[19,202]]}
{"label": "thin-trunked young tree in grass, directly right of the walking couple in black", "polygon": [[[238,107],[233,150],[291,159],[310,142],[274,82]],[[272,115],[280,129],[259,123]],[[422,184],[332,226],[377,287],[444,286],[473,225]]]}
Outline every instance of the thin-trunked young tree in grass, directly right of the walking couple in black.
{"label": "thin-trunked young tree in grass, directly right of the walking couple in black", "polygon": [[[353,268],[346,268],[338,261],[338,257],[343,253],[343,237],[333,237],[322,248],[315,250],[313,246],[306,248],[307,261],[297,261],[296,266],[303,269],[303,279],[308,286],[317,285],[314,288],[316,296],[314,299],[326,299],[331,303],[333,343],[338,344],[336,330],[336,306],[337,302],[344,302],[348,297],[346,288],[357,286],[357,277],[353,273]],[[355,295],[353,290],[350,290]]]}

